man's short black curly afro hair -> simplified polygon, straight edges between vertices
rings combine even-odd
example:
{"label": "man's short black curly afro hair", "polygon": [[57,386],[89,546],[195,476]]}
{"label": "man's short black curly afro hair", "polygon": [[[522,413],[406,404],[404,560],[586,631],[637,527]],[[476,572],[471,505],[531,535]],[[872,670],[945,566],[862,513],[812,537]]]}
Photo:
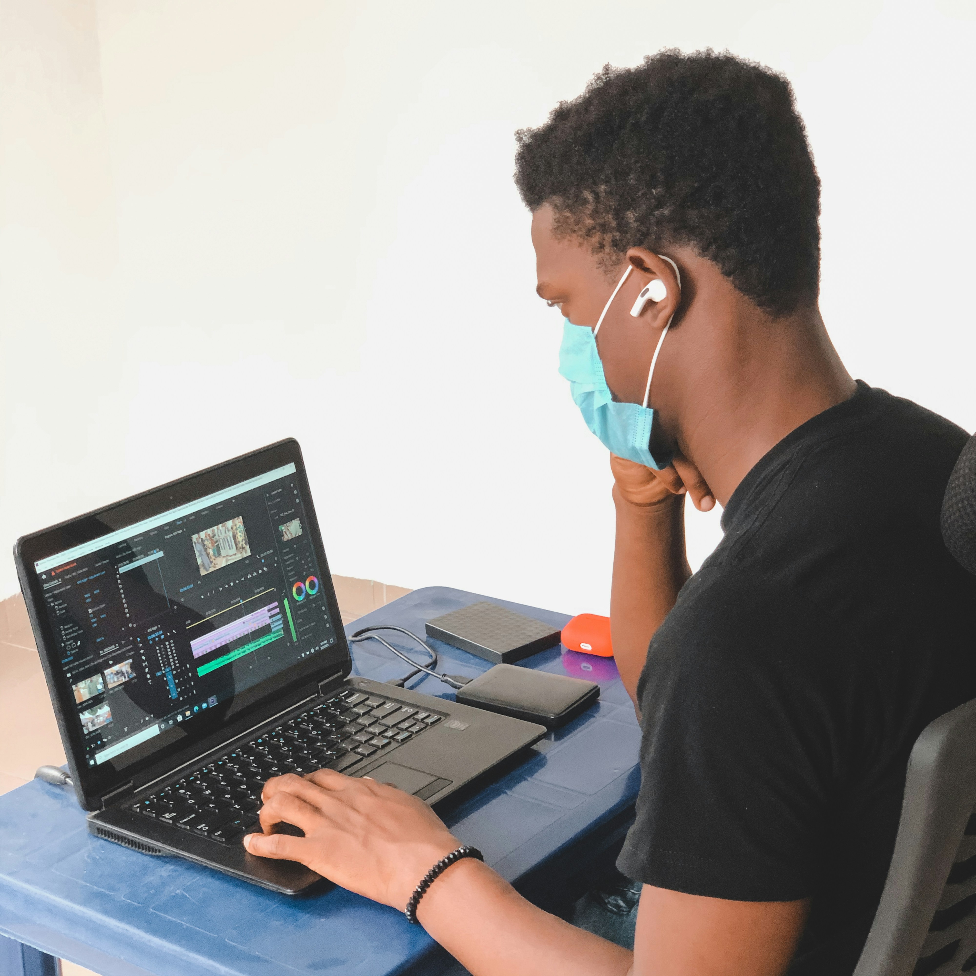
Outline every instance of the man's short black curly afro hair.
{"label": "man's short black curly afro hair", "polygon": [[607,264],[686,245],[774,316],[816,301],[820,180],[782,75],[712,51],[607,65],[537,129],[515,183]]}

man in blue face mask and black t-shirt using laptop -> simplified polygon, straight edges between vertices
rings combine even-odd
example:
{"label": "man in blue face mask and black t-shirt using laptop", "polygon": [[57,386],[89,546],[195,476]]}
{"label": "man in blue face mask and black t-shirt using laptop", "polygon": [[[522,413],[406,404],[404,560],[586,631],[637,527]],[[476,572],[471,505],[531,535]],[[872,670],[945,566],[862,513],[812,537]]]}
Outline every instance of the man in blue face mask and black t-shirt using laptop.
{"label": "man in blue face mask and black t-shirt using laptop", "polygon": [[[976,697],[976,580],[939,533],[966,435],[840,362],[783,78],[664,52],[518,138],[561,371],[613,452],[613,643],[643,731],[619,865],[643,888],[632,955],[471,859],[419,920],[478,976],[849,974],[915,738]],[[725,509],[694,576],[685,494]],[[413,797],[333,772],[264,798],[252,853],[398,909],[458,846]],[[283,821],[305,837],[272,834]]]}

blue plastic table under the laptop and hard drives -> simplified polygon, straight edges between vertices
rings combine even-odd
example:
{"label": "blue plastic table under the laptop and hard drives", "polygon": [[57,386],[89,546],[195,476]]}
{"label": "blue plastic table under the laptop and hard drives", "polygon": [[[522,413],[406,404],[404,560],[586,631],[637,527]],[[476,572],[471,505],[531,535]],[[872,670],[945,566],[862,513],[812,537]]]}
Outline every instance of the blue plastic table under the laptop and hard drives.
{"label": "blue plastic table under the laptop and hard drives", "polygon": [[[479,599],[441,587],[415,590],[347,630],[398,624],[423,635],[426,620]],[[495,602],[557,627],[568,620]],[[410,650],[408,638],[388,639]],[[449,673],[473,676],[490,667],[434,644]],[[375,641],[353,646],[354,673],[380,681],[405,673]],[[597,680],[599,704],[445,820],[499,874],[545,903],[630,823],[640,732],[612,661],[554,647],[522,665]],[[429,677],[411,686],[452,694]],[[342,888],[289,899],[179,858],[98,840],[73,793],[36,780],[0,796],[0,936],[8,937],[0,938],[4,976],[53,974],[50,956],[103,976],[435,976],[453,966],[420,926]]]}

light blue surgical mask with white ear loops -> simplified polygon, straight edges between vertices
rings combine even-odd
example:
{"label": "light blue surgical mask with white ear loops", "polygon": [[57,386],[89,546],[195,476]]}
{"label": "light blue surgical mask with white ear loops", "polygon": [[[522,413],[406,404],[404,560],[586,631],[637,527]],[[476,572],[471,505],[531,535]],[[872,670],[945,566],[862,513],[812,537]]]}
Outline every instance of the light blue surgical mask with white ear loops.
{"label": "light blue surgical mask with white ear loops", "polygon": [[[678,284],[681,275],[671,258],[661,256],[674,268]],[[647,387],[644,402],[621,403],[613,398],[603,374],[603,364],[596,348],[596,334],[600,331],[607,310],[617,297],[617,292],[627,281],[630,266],[624,272],[613,294],[603,306],[603,311],[590,329],[587,325],[573,325],[567,318],[563,323],[562,346],[559,347],[559,373],[569,380],[573,401],[580,408],[587,427],[599,437],[600,442],[618,457],[634,461],[645,468],[660,470],[671,464],[671,458],[655,458],[651,454],[651,430],[654,427],[654,411],[647,404],[651,396],[651,380],[658,361],[661,344],[671,328],[671,319],[661,332],[661,338],[651,359],[651,369],[647,374]]]}

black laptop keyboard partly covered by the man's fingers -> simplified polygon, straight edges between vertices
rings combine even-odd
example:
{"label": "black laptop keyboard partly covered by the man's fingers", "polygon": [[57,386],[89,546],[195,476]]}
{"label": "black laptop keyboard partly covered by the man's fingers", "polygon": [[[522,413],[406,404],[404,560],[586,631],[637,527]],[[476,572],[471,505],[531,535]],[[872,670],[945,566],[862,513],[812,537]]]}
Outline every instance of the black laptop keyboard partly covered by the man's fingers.
{"label": "black laptop keyboard partly covered by the man's fingers", "polygon": [[436,725],[443,716],[346,690],[129,807],[143,817],[230,844],[258,823],[264,783],[316,769],[352,770]]}

